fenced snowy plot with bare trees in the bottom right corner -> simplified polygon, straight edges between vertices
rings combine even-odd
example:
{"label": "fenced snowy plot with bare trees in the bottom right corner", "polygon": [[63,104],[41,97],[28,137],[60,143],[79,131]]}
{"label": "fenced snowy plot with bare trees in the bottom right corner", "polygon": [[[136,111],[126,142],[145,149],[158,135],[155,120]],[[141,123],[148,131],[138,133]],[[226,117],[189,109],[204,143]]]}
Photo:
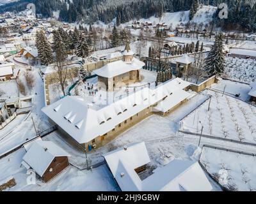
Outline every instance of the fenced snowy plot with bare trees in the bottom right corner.
{"label": "fenced snowy plot with bare trees in the bottom right corner", "polygon": [[256,191],[256,157],[204,147],[200,162],[230,191]]}

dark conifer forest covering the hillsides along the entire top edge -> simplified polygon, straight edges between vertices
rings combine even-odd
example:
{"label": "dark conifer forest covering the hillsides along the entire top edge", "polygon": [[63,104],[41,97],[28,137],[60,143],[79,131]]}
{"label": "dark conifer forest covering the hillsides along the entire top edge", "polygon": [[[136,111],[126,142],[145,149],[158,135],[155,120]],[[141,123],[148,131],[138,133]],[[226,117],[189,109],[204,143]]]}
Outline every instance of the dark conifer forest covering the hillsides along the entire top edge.
{"label": "dark conifer forest covering the hillsides along the entire top edge", "polygon": [[65,22],[101,20],[108,24],[116,18],[118,25],[134,18],[161,17],[164,12],[191,10],[195,1],[213,6],[227,3],[228,19],[220,20],[216,15],[217,24],[256,30],[255,0],[20,0],[0,6],[0,12],[21,11],[26,4],[35,3],[36,13],[43,17],[52,17],[54,11],[60,11],[59,18]]}

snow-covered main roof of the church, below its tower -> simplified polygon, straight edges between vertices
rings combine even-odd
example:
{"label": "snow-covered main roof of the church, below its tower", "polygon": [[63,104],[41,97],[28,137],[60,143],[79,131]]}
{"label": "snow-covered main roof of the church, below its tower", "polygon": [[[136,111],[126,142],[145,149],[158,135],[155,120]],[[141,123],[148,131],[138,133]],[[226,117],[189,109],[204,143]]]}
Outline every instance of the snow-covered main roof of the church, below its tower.
{"label": "snow-covered main roof of the church, below its tower", "polygon": [[94,70],[93,73],[100,77],[111,78],[122,75],[129,71],[139,70],[143,66],[145,66],[145,63],[134,57],[131,62],[125,62],[122,60],[111,62],[100,69]]}

